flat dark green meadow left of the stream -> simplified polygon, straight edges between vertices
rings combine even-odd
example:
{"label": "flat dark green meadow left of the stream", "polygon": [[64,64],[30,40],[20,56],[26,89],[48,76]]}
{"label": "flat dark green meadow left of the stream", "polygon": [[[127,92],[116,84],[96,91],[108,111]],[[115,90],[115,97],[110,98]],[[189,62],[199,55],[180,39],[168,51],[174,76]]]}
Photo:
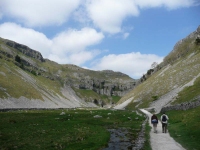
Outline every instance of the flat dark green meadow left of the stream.
{"label": "flat dark green meadow left of the stream", "polygon": [[125,127],[136,138],[144,120],[131,111],[66,109],[0,112],[0,118],[0,149],[22,150],[97,150],[107,146],[108,128]]}

